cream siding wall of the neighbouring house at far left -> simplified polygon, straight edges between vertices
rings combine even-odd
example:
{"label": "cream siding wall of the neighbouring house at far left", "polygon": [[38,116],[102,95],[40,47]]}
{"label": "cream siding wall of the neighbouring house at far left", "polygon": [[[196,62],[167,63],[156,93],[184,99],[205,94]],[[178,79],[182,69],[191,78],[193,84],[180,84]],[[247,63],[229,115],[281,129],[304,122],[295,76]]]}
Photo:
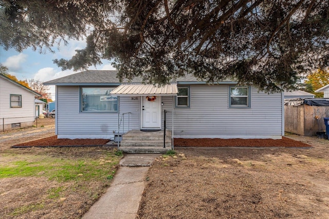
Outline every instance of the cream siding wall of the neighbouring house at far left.
{"label": "cream siding wall of the neighbouring house at far left", "polygon": [[[11,95],[21,97],[21,107],[11,107]],[[0,77],[0,124],[31,123],[35,119],[34,94]],[[24,125],[22,125],[23,127]]]}

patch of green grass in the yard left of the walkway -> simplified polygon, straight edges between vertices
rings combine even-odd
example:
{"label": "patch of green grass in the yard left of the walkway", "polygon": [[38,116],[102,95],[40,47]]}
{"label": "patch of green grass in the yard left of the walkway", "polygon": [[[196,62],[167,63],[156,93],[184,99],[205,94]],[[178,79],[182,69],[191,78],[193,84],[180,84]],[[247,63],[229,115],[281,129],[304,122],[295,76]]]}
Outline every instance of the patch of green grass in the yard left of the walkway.
{"label": "patch of green grass in the yard left of the walkway", "polygon": [[[107,179],[120,160],[120,155],[107,153],[100,161],[93,158],[64,159],[51,156],[26,156],[24,160],[5,162],[0,178],[45,176],[59,182]],[[114,174],[112,174],[114,175]]]}

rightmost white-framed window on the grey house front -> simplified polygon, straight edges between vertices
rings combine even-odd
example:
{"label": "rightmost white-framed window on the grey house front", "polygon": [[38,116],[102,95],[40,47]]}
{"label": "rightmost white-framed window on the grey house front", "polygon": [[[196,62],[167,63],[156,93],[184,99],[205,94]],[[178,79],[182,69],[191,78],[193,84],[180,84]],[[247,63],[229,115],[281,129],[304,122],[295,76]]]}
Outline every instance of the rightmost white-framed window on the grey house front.
{"label": "rightmost white-framed window on the grey house front", "polygon": [[229,107],[230,108],[250,108],[250,86],[249,87],[229,87]]}

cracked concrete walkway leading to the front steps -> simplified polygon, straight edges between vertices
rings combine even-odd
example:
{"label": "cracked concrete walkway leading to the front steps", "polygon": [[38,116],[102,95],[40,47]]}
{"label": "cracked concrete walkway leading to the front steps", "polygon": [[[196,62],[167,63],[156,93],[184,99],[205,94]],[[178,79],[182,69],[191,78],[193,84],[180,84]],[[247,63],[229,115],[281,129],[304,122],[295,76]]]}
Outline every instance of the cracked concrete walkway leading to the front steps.
{"label": "cracked concrete walkway leading to the front steps", "polygon": [[111,186],[82,217],[135,219],[147,172],[159,154],[125,154]]}

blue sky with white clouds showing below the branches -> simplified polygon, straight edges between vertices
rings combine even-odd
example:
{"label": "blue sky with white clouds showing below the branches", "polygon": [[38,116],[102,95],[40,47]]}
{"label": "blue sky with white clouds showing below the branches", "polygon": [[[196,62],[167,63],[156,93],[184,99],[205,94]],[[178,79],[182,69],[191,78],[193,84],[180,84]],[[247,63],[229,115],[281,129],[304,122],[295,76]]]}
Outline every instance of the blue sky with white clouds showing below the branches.
{"label": "blue sky with white clouds showing below the branches", "polygon": [[[60,45],[59,49],[54,48],[55,53],[50,51],[46,53],[39,53],[38,50],[33,51],[32,48],[28,48],[23,52],[17,52],[14,49],[4,50],[0,47],[0,63],[8,67],[9,74],[16,76],[18,80],[26,79],[39,79],[42,82],[61,78],[76,72],[73,70],[62,71],[52,62],[53,59],[69,59],[75,54],[76,49],[82,49],[86,45],[85,41],[69,41],[69,44],[64,46]],[[108,60],[102,60],[103,64],[100,66],[90,66],[89,69],[98,70],[114,70],[111,62]],[[50,87],[50,93],[52,100],[56,100],[55,88]]]}

